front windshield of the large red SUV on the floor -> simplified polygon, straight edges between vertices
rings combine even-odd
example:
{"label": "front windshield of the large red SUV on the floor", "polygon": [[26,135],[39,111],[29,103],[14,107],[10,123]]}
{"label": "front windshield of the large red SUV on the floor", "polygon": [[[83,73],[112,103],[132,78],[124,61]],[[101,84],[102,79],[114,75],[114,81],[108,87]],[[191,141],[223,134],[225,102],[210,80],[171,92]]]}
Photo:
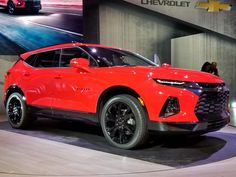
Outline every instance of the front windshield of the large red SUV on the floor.
{"label": "front windshield of the large red SUV on the floor", "polygon": [[141,55],[119,49],[82,46],[100,67],[111,66],[157,66]]}

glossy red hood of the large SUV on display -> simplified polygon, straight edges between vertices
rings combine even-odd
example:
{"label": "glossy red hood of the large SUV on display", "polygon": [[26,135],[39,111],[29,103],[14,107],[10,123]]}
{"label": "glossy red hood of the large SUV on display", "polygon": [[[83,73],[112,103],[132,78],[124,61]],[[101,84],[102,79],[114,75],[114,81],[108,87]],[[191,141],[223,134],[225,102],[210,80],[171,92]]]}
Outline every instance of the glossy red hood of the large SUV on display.
{"label": "glossy red hood of the large SUV on display", "polygon": [[222,83],[221,78],[205,72],[172,67],[112,67],[112,72],[145,75],[153,79],[178,80],[188,82]]}

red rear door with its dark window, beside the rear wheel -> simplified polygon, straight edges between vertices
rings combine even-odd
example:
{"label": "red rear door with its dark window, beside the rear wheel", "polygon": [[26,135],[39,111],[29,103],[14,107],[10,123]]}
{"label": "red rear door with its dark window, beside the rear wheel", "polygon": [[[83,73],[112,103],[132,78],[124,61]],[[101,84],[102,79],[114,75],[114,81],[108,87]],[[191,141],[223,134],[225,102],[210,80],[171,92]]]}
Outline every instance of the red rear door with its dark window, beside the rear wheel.
{"label": "red rear door with its dark window, beside the rear wheel", "polygon": [[53,80],[59,67],[61,50],[51,50],[30,56],[28,67],[22,71],[27,103],[40,109],[51,110],[54,93]]}

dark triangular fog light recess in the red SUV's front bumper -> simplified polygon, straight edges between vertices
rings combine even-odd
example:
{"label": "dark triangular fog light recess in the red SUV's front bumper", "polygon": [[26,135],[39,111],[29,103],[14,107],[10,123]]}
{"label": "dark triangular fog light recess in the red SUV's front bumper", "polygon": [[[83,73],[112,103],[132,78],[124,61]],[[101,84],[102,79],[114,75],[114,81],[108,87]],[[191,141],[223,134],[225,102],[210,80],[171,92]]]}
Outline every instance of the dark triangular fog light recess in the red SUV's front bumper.
{"label": "dark triangular fog light recess in the red SUV's front bumper", "polygon": [[161,109],[160,117],[166,118],[178,114],[179,112],[180,112],[180,106],[178,98],[168,97],[163,108]]}

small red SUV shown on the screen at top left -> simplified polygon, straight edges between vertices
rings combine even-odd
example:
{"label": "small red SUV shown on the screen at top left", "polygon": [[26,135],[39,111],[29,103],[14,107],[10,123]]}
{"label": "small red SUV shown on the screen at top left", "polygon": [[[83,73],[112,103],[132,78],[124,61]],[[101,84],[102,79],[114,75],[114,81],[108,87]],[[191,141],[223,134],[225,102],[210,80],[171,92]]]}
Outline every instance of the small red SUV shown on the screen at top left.
{"label": "small red SUV shown on the screen at top left", "polygon": [[38,13],[42,8],[40,0],[0,0],[0,6],[6,7],[9,14],[14,14],[17,9]]}

